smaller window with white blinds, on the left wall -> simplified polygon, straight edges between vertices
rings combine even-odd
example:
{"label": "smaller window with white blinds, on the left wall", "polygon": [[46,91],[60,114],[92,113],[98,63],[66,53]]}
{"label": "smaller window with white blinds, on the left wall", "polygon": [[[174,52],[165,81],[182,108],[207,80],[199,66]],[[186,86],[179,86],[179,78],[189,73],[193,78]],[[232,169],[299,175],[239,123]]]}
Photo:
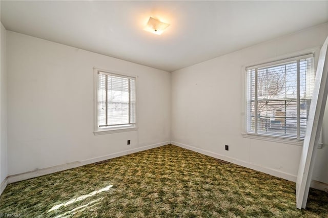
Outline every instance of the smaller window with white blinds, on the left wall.
{"label": "smaller window with white blinds, on the left wall", "polygon": [[95,69],[95,134],[135,129],[135,81]]}

